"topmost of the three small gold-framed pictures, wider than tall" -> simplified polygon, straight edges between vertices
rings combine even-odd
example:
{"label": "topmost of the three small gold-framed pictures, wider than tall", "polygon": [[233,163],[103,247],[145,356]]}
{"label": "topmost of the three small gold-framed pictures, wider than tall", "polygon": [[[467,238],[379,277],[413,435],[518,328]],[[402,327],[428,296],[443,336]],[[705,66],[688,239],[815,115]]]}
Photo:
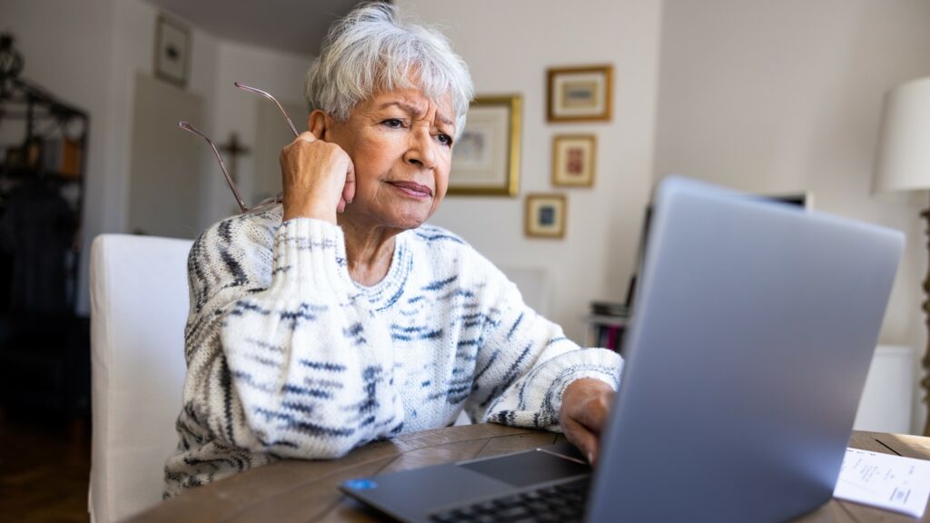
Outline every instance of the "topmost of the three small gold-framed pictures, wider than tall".
{"label": "topmost of the three small gold-framed pictures, wider than tall", "polygon": [[549,70],[548,117],[550,122],[610,120],[611,65],[553,68]]}

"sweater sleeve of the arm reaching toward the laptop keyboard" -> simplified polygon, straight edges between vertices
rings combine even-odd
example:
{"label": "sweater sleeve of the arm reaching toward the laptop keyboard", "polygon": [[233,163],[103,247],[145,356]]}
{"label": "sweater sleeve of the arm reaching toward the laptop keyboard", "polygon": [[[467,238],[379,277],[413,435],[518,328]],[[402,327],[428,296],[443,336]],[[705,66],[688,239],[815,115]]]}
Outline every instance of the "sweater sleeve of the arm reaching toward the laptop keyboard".
{"label": "sweater sleeve of the arm reaching toward the laptop keyboard", "polygon": [[488,288],[498,289],[478,352],[472,419],[561,432],[562,393],[571,382],[595,378],[615,390],[623,360],[606,349],[582,349],[558,325],[526,306],[519,290],[497,269]]}

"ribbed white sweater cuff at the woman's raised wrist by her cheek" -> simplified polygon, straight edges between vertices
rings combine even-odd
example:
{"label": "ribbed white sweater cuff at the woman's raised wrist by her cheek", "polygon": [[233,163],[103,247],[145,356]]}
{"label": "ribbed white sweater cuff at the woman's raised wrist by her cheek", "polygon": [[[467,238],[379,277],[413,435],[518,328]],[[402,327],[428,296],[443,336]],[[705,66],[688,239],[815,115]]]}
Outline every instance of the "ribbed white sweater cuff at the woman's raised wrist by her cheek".
{"label": "ribbed white sweater cuff at the woman's raised wrist by her cheek", "polygon": [[348,296],[345,236],[338,225],[313,218],[285,221],[274,234],[271,288],[335,291]]}

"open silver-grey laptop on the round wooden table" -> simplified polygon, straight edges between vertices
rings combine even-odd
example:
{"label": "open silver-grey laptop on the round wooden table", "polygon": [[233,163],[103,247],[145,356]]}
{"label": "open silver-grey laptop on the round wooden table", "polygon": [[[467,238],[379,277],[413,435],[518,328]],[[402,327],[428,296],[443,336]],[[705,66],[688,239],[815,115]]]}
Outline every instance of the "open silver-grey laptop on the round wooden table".
{"label": "open silver-grey laptop on the round wooden table", "polygon": [[564,445],[340,489],[411,522],[784,521],[828,502],[903,235],[669,178],[647,245],[593,470]]}

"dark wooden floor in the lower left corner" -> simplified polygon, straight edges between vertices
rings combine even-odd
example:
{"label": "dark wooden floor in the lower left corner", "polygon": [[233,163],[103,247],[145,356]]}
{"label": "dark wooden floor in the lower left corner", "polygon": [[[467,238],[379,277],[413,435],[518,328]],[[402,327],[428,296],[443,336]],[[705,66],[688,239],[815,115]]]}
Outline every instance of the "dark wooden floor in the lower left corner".
{"label": "dark wooden floor in the lower left corner", "polygon": [[0,414],[0,520],[86,522],[89,425]]}

